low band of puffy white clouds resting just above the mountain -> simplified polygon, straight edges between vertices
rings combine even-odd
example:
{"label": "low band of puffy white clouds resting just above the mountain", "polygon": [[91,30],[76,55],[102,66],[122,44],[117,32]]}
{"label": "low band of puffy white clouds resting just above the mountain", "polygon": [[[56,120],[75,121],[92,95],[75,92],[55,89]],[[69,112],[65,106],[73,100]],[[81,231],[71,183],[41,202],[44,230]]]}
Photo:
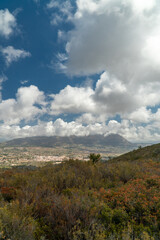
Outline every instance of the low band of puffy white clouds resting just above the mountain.
{"label": "low band of puffy white clouds resting just above the mountain", "polygon": [[[154,132],[153,132],[154,129]],[[12,139],[17,137],[31,137],[31,136],[86,136],[94,134],[108,135],[110,133],[118,133],[123,137],[133,142],[156,142],[160,138],[160,132],[155,131],[157,126],[147,125],[133,125],[129,120],[118,122],[110,120],[108,124],[104,123],[90,123],[83,125],[82,123],[71,121],[65,122],[58,118],[56,121],[38,121],[35,125],[9,125],[1,124],[0,132],[1,138]]]}

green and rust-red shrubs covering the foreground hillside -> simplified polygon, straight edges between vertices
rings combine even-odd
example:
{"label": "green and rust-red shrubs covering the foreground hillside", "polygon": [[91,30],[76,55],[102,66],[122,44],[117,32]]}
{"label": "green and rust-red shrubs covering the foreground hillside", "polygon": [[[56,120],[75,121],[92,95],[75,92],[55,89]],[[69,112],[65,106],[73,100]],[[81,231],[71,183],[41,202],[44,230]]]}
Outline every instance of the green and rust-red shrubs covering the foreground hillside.
{"label": "green and rust-red shrubs covering the foreground hillside", "polygon": [[160,151],[147,151],[1,169],[0,239],[160,239]]}

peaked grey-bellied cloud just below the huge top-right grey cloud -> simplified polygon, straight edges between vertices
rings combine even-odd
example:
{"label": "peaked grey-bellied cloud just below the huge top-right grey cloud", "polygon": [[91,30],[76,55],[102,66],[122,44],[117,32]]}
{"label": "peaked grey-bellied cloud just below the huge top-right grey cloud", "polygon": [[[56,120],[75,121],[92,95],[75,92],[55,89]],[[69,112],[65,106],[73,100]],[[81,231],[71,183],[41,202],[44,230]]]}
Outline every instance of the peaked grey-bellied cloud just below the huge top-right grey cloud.
{"label": "peaked grey-bellied cloud just below the huge top-right grey cloud", "polygon": [[101,74],[97,81],[93,98],[99,113],[112,115],[133,111],[139,105],[127,85],[107,72]]}

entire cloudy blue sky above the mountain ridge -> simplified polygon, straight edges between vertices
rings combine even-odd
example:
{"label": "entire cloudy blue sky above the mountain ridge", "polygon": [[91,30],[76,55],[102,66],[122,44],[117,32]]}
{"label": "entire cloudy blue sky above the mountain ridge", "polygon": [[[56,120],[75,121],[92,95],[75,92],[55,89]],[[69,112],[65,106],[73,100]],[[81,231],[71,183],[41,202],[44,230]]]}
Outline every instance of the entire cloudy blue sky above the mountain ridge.
{"label": "entire cloudy blue sky above the mountain ridge", "polygon": [[1,0],[0,140],[160,142],[158,0]]}

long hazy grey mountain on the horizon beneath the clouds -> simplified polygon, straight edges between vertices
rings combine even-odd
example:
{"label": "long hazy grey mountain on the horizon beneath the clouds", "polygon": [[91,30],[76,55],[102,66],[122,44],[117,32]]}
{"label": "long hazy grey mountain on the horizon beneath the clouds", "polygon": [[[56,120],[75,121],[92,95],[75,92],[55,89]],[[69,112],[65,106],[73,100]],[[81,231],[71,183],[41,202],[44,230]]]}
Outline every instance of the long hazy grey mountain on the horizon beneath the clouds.
{"label": "long hazy grey mountain on the horizon beneath the clouds", "polygon": [[69,137],[27,137],[13,139],[0,144],[0,147],[55,147],[63,145],[84,145],[84,146],[112,146],[112,147],[132,147],[132,143],[118,134],[89,135],[89,136],[69,136]]}

